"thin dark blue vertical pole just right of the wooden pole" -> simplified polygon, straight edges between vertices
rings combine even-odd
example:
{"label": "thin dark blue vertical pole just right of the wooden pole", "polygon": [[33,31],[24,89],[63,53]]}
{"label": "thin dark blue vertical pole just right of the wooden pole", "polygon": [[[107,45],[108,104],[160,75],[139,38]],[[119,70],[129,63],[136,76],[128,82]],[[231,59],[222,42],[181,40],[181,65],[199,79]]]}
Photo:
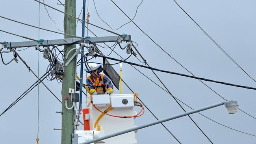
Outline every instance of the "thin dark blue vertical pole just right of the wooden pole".
{"label": "thin dark blue vertical pole just right of the wooden pole", "polygon": [[[85,20],[85,3],[86,0],[83,0],[83,20]],[[84,37],[84,28],[85,23],[82,22],[82,37]],[[81,65],[80,65],[80,91],[79,91],[79,109],[82,109],[82,90],[83,90],[83,47],[82,47],[82,54],[81,54]],[[81,110],[82,111],[82,110]]]}

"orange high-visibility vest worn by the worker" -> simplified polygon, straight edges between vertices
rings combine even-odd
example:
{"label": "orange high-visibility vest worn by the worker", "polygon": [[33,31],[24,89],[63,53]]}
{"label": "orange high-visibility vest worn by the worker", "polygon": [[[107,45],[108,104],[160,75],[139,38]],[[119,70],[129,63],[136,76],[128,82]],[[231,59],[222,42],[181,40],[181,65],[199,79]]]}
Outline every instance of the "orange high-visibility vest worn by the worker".
{"label": "orange high-visibility vest worn by the worker", "polygon": [[[104,74],[100,74],[101,79],[97,78],[92,85],[92,87],[95,87],[95,90],[98,94],[105,94],[105,92],[107,91],[107,86],[103,81],[104,76]],[[94,81],[94,78],[92,79],[91,76],[88,76],[87,79],[89,79],[91,82]]]}

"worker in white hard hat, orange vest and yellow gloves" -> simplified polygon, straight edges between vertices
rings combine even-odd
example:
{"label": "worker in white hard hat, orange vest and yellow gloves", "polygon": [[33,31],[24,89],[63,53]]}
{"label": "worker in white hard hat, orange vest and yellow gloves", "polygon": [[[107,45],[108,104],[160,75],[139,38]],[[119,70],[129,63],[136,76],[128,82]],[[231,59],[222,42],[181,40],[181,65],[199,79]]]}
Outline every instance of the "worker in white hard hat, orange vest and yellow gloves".
{"label": "worker in white hard hat, orange vest and yellow gloves", "polygon": [[84,70],[91,74],[86,78],[86,84],[91,94],[112,94],[113,85],[105,74],[100,74],[103,68],[96,63],[89,63]]}

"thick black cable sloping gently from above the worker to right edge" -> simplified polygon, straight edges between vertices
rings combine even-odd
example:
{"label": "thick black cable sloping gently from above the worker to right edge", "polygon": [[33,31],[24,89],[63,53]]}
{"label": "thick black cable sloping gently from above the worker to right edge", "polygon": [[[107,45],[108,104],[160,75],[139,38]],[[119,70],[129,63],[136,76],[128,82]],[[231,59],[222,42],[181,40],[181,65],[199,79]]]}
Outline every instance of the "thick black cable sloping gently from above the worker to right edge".
{"label": "thick black cable sloping gently from above the worker to right edge", "polygon": [[[254,88],[254,87],[247,87],[247,86],[243,86],[243,85],[235,85],[235,84],[232,84],[232,83],[226,83],[226,82],[215,81],[215,80],[206,79],[206,78],[200,78],[200,77],[195,77],[195,76],[189,76],[189,75],[186,75],[186,74],[180,74],[180,73],[177,73],[177,72],[171,72],[171,71],[167,71],[167,70],[160,70],[160,69],[153,68],[153,67],[150,67],[150,66],[139,65],[139,64],[136,64],[136,63],[132,63],[132,62],[128,62],[128,61],[123,61],[123,60],[115,59],[115,58],[112,58],[112,57],[105,57],[105,56],[98,55],[98,54],[95,54],[95,56],[104,57],[104,58],[106,58],[106,59],[111,59],[111,60],[114,60],[114,61],[119,61],[119,62],[123,62],[123,63],[128,63],[128,64],[130,64],[130,65],[140,66],[140,67],[143,67],[143,68],[148,68],[148,69],[150,69],[150,70],[156,70],[156,71],[159,71],[159,72],[165,72],[165,73],[168,73],[168,74],[175,74],[175,75],[184,76],[184,77],[188,77],[188,78],[200,79],[200,80],[203,80],[203,81],[210,81],[210,82],[214,82],[214,83],[220,83],[220,84],[223,84],[223,85],[230,85],[230,86],[234,86],[234,87],[241,87],[241,88],[245,88],[245,89],[253,89],[253,90],[256,90],[256,88]],[[101,63],[99,63],[99,64],[101,64]],[[104,65],[107,65],[107,64],[104,64]],[[111,64],[110,64],[110,65],[111,65]]]}

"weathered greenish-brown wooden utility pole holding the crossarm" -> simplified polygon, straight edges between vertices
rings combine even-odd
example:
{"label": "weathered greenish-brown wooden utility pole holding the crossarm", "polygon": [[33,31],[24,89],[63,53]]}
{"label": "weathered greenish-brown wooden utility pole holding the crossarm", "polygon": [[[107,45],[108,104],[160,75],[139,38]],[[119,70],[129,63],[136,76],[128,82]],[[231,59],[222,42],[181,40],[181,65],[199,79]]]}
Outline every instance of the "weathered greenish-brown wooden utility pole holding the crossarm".
{"label": "weathered greenish-brown wooden utility pole holding the crossarm", "polygon": [[[68,13],[74,17],[76,17],[76,0],[65,0],[65,13]],[[76,19],[73,17],[70,17],[68,15],[64,15],[64,32],[65,34],[70,35],[76,35]],[[70,36],[65,35],[65,39],[67,38],[73,38]],[[76,48],[76,45],[66,45],[64,48],[67,48],[64,50],[65,57],[67,53],[72,49]],[[70,52],[70,56],[73,55],[75,50]],[[70,58],[69,56],[69,58]],[[64,64],[69,59],[64,59]],[[65,106],[65,100],[64,97],[68,97],[68,107],[72,106],[71,100],[71,94],[69,94],[69,88],[74,89],[75,88],[75,68],[76,68],[76,57],[72,59],[72,61],[69,63],[69,65],[64,66],[64,75],[63,75],[63,83],[62,83],[62,123],[61,123],[61,144],[71,144],[71,135],[74,132],[74,108],[73,109],[67,109]]]}

